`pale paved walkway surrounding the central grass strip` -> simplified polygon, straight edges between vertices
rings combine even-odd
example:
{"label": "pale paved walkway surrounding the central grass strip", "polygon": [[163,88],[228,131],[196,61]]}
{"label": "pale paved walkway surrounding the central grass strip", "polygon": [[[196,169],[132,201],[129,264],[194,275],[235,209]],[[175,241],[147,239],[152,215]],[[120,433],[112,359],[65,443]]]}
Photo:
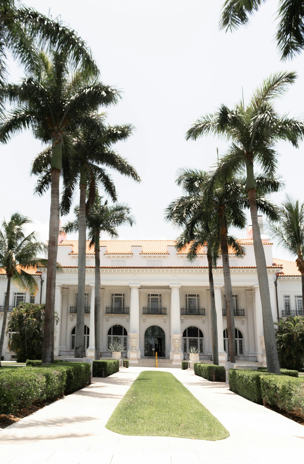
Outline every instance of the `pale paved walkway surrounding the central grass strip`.
{"label": "pale paved walkway surrounding the central grass strip", "polygon": [[[171,372],[230,432],[219,441],[129,437],[105,428],[140,367],[120,368],[0,431],[1,464],[286,464],[303,460],[304,426],[230,392],[226,384]],[[299,461],[301,462],[301,461]]]}

